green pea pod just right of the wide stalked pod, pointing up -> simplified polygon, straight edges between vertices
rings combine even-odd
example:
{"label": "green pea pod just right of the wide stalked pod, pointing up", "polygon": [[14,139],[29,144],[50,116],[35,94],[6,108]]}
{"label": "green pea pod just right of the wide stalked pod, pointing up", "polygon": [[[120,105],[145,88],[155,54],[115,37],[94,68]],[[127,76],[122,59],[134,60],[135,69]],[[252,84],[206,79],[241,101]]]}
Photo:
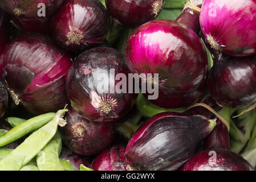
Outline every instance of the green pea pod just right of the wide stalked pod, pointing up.
{"label": "green pea pod just right of the wide stalked pod, pointing up", "polygon": [[64,171],[59,160],[62,138],[57,132],[54,138],[36,156],[36,164],[40,171]]}

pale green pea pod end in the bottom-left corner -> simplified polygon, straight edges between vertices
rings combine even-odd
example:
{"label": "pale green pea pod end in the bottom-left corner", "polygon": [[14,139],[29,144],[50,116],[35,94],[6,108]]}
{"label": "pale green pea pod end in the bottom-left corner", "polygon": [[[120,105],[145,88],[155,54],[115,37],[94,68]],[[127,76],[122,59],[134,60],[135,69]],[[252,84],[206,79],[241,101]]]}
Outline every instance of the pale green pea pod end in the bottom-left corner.
{"label": "pale green pea pod end in the bottom-left corner", "polygon": [[19,171],[22,168],[25,155],[14,155],[0,161],[0,171]]}

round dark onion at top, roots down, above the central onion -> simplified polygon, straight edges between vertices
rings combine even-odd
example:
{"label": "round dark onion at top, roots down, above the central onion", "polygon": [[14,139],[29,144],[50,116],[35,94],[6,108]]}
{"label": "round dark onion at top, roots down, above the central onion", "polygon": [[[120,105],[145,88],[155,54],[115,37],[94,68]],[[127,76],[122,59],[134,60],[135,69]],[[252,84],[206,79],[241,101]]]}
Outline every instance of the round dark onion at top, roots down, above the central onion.
{"label": "round dark onion at top, roots down, above the central onion", "polygon": [[95,0],[67,0],[52,18],[52,35],[71,52],[99,46],[108,28],[108,12]]}

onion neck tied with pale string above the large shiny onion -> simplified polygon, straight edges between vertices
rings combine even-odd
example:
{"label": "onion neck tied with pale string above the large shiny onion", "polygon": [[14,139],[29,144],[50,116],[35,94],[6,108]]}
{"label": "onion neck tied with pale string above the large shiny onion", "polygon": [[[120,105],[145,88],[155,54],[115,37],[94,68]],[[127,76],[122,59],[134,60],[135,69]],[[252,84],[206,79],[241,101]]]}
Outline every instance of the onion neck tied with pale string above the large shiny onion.
{"label": "onion neck tied with pale string above the large shiny onion", "polygon": [[181,15],[176,19],[176,22],[182,23],[187,28],[198,33],[200,29],[199,18],[202,2],[202,0],[189,0],[184,6]]}

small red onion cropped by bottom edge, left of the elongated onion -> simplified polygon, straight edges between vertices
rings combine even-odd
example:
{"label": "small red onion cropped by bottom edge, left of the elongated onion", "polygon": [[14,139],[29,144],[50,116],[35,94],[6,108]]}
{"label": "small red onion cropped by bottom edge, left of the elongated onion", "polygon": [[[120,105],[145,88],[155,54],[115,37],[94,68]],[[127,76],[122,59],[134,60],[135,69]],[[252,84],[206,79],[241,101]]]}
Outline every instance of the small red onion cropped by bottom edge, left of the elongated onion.
{"label": "small red onion cropped by bottom edge, left of the elongated onion", "polygon": [[128,171],[124,156],[124,146],[113,146],[99,154],[92,162],[94,171]]}

